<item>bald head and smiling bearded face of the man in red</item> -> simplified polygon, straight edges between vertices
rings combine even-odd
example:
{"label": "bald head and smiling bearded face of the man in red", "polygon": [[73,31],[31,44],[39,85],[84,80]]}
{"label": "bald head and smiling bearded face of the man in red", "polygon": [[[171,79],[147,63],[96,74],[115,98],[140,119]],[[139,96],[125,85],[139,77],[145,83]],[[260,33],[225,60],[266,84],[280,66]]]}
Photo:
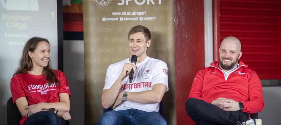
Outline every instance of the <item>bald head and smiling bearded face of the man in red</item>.
{"label": "bald head and smiling bearded face of the man in red", "polygon": [[234,68],[242,56],[240,41],[235,37],[226,37],[219,48],[219,67],[225,71]]}

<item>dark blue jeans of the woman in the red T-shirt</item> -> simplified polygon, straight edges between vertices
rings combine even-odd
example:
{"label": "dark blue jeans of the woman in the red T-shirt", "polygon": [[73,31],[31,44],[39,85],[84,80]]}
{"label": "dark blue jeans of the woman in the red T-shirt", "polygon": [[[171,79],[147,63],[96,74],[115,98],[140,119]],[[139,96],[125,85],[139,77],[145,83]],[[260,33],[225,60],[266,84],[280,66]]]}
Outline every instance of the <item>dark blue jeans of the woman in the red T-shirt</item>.
{"label": "dark blue jeans of the woman in the red T-shirt", "polygon": [[23,125],[66,125],[68,124],[67,120],[57,117],[54,112],[51,111],[41,111],[38,113],[32,114],[28,117]]}

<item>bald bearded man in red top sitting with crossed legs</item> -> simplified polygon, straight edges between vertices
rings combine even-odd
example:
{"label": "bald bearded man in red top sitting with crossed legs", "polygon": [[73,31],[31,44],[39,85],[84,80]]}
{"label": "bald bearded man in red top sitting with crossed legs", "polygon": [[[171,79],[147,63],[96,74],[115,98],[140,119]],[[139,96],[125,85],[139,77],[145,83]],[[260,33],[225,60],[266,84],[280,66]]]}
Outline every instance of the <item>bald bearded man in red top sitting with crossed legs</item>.
{"label": "bald bearded man in red top sitting with crossed legs", "polygon": [[263,90],[257,73],[238,61],[241,43],[226,37],[219,48],[219,61],[196,74],[185,109],[197,125],[261,125],[250,113],[264,108]]}

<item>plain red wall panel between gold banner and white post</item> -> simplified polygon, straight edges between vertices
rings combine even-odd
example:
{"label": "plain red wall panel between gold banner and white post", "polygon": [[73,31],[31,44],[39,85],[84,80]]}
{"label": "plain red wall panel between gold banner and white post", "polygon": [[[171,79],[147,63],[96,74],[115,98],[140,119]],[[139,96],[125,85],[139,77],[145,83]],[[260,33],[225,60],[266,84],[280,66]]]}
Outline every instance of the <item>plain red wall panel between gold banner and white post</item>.
{"label": "plain red wall panel between gold banner and white post", "polygon": [[205,66],[203,0],[175,0],[175,85],[178,125],[195,125],[187,100],[195,74]]}

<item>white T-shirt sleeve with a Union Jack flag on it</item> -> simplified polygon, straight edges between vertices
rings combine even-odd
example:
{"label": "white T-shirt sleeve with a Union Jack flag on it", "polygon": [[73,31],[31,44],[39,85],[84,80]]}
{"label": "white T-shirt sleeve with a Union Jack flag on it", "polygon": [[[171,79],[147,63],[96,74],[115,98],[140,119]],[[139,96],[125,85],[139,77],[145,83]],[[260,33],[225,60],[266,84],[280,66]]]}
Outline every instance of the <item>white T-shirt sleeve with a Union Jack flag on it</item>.
{"label": "white T-shirt sleeve with a Union Jack flag on it", "polygon": [[166,92],[167,92],[169,90],[167,64],[163,61],[160,61],[159,63],[155,64],[153,73],[154,74],[153,74],[151,86],[157,83],[163,83],[166,85]]}

